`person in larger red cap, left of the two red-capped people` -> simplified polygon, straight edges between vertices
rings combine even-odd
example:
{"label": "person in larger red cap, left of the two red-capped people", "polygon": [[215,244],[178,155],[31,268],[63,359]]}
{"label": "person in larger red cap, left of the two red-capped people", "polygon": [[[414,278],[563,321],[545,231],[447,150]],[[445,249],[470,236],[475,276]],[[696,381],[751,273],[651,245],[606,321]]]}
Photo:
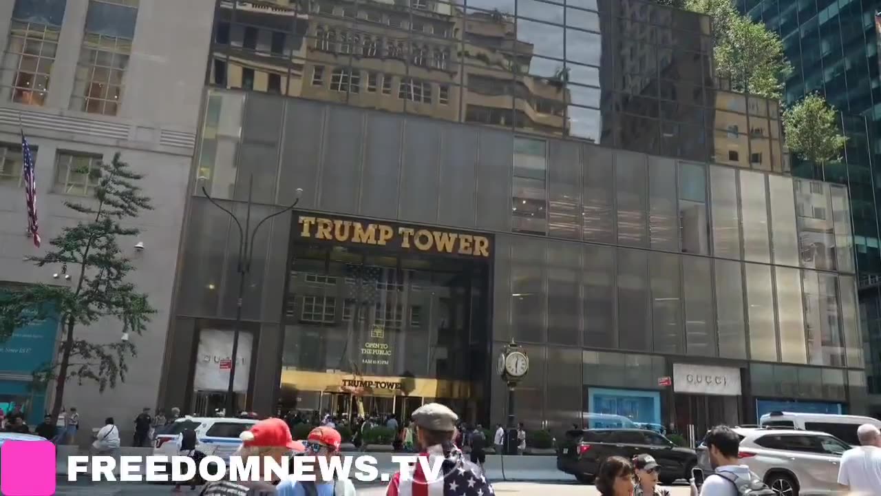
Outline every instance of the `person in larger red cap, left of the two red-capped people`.
{"label": "person in larger red cap, left of the two red-capped people", "polygon": [[[257,470],[263,479],[263,457],[270,456],[281,464],[286,455],[292,452],[302,452],[303,444],[291,437],[285,421],[280,418],[267,418],[257,422],[250,430],[242,432],[239,436],[241,447],[235,452],[235,456],[249,458],[257,457]],[[247,466],[248,460],[242,460],[242,465]],[[202,489],[202,496],[275,496],[276,484],[273,482],[260,481],[231,481],[219,480],[211,482]]]}

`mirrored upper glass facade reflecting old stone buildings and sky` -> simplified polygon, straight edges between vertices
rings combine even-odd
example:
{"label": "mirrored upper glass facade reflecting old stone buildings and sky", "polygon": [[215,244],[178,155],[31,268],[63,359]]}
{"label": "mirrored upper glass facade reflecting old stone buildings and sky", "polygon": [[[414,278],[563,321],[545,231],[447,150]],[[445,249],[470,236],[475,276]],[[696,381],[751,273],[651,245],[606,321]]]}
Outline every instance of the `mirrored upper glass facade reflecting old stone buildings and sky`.
{"label": "mirrored upper glass facade reflecting old stone buildings and sky", "polygon": [[[709,19],[692,12],[641,0],[272,4],[218,2],[211,86],[788,169],[776,102],[714,79]],[[542,187],[516,177],[522,194]],[[539,214],[524,199],[524,217]],[[559,200],[521,229],[568,229],[574,206]]]}

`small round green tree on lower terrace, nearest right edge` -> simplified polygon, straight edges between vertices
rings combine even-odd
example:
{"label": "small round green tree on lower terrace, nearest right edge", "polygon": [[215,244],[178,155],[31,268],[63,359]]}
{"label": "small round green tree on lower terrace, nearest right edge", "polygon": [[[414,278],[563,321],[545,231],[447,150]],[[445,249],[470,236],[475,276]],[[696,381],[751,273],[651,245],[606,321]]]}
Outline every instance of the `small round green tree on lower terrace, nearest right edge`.
{"label": "small round green tree on lower terrace, nearest right edge", "polygon": [[839,133],[838,124],[838,112],[819,94],[809,94],[783,112],[787,146],[819,166],[839,160],[848,141]]}

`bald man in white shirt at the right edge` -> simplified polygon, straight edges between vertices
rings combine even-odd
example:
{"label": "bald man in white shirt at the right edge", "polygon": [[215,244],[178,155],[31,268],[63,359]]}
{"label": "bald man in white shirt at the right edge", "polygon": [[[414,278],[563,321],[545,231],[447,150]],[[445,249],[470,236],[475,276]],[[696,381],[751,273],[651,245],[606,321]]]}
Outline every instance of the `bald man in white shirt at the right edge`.
{"label": "bald man in white shirt at the right edge", "polygon": [[881,431],[875,425],[860,425],[856,437],[862,446],[841,455],[838,484],[851,494],[877,494],[881,488]]}

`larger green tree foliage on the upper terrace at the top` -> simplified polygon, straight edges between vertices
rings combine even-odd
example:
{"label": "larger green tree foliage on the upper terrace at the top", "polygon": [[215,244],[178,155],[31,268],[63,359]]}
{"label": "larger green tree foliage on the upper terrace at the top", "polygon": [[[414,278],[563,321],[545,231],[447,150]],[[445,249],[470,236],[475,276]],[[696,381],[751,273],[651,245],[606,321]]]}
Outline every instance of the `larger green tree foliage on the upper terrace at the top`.
{"label": "larger green tree foliage on the upper terrace at the top", "polygon": [[780,100],[792,72],[780,36],[737,13],[731,0],[686,0],[685,6],[712,19],[716,76],[734,91]]}

